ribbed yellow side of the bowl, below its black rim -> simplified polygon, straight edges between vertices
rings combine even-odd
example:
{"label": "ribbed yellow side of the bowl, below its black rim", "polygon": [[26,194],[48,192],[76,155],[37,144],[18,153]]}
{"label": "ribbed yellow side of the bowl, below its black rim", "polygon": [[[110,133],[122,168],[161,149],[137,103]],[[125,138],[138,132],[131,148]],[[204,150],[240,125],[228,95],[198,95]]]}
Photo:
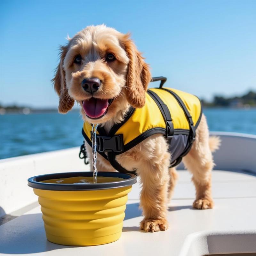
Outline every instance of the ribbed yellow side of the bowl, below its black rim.
{"label": "ribbed yellow side of the bowl, below its black rim", "polygon": [[132,186],[91,191],[34,188],[46,237],[64,245],[98,245],[120,238],[125,204]]}

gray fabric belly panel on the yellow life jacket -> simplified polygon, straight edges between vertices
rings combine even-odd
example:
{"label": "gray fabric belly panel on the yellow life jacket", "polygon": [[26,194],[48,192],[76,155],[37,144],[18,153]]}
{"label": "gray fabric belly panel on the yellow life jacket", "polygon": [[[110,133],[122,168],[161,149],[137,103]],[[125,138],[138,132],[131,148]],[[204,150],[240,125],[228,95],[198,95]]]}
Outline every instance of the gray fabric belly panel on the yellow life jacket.
{"label": "gray fabric belly panel on the yellow life jacket", "polygon": [[173,163],[181,154],[185,151],[188,144],[188,135],[178,134],[174,135],[171,140],[168,140],[169,146],[168,151],[171,152],[171,163]]}

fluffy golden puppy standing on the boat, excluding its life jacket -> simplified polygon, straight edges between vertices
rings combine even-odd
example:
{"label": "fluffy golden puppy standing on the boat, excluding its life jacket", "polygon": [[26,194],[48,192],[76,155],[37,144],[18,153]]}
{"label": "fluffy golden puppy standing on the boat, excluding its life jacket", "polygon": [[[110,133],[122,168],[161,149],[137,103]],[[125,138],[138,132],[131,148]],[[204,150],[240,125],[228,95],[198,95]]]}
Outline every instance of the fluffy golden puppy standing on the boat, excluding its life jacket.
{"label": "fluffy golden puppy standing on the boat, excluding its life jacket", "polygon": [[[81,86],[84,80],[86,86]],[[68,44],[61,46],[60,63],[52,79],[59,95],[60,113],[67,113],[77,102],[81,106],[83,120],[100,124],[107,132],[114,124],[122,122],[131,106],[144,106],[150,80],[149,65],[137,50],[130,34],[122,34],[105,25],[89,26],[73,38],[68,38]],[[90,107],[95,101],[100,102],[103,107],[90,113]],[[92,150],[85,144],[89,158],[92,159]],[[212,152],[219,145],[218,137],[209,137],[203,114],[196,129],[193,146],[183,157],[183,163],[192,173],[196,188],[193,208],[213,207]],[[140,176],[140,207],[144,216],[140,229],[147,232],[168,228],[167,203],[178,177],[175,168],[169,167],[170,158],[163,134],[154,134],[116,156],[117,162],[124,168],[129,170],[131,166],[136,167]],[[99,154],[97,169],[115,171]]]}

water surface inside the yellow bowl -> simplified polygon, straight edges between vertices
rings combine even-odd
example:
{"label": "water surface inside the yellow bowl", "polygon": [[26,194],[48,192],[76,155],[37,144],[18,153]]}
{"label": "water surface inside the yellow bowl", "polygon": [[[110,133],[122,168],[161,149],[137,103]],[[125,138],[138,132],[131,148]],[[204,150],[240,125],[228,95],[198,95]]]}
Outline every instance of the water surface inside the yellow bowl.
{"label": "water surface inside the yellow bowl", "polygon": [[[115,182],[119,180],[124,180],[122,178],[117,177],[103,177],[100,176],[97,178],[97,183],[105,183],[105,182]],[[83,184],[83,183],[95,183],[94,177],[70,177],[70,178],[63,178],[63,179],[52,179],[52,180],[43,180],[40,182],[44,183],[59,183],[59,184]]]}

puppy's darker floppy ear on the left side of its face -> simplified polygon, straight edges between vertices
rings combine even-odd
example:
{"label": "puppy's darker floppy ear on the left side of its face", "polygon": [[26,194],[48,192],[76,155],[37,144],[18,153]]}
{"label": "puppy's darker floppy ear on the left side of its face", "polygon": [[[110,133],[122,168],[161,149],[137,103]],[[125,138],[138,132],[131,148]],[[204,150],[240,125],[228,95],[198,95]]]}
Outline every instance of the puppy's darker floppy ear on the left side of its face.
{"label": "puppy's darker floppy ear on the left side of its face", "polygon": [[56,68],[56,73],[52,82],[54,89],[60,96],[59,112],[62,114],[67,113],[73,106],[75,101],[68,95],[68,88],[66,85],[65,70],[63,68],[63,60],[68,52],[67,46],[60,47],[60,64]]}

